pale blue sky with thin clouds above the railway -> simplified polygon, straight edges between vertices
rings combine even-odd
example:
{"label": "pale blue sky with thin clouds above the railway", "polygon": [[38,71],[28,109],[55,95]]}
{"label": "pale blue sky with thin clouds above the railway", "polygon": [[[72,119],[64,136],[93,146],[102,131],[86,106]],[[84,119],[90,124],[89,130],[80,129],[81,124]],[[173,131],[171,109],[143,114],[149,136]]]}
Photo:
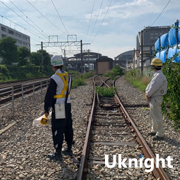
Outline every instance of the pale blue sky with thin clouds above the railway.
{"label": "pale blue sky with thin clouds above the railway", "polygon": [[[83,51],[89,49],[114,59],[135,48],[136,35],[145,27],[171,26],[176,20],[180,20],[180,1],[168,2],[169,0],[0,0],[0,23],[29,35],[32,52],[40,49],[41,41],[75,41],[77,38],[77,41],[82,40],[84,44]],[[79,46],[44,49],[53,55],[63,55],[65,49],[67,57],[80,52]]]}

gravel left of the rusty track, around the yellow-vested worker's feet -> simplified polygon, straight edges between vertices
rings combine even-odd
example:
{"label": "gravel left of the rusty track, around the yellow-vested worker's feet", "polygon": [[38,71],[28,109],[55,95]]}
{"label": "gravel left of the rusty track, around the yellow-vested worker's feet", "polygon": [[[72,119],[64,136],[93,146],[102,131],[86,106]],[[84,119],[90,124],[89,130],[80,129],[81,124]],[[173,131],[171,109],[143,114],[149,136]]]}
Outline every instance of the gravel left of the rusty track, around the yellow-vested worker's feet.
{"label": "gravel left of the rusty track, around the yellow-vested worker's feet", "polygon": [[[25,111],[16,112],[16,124],[0,136],[0,179],[75,179],[84,145],[87,118],[91,109],[92,84],[71,91],[74,128],[74,157],[63,156],[63,162],[49,161],[48,153],[54,151],[51,126],[32,127],[32,121],[43,114],[43,103],[25,102]],[[17,103],[17,109],[20,107]],[[63,147],[66,147],[65,143]]]}

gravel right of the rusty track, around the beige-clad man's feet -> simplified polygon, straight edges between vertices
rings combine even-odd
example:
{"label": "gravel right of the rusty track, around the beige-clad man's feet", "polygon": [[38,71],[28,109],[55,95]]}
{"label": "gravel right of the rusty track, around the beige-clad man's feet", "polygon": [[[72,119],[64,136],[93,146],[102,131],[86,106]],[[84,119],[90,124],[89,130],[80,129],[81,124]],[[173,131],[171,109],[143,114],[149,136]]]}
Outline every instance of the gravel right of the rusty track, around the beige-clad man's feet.
{"label": "gravel right of the rusty track, around the beige-clad man's feet", "polygon": [[[144,93],[130,85],[124,76],[116,82],[117,91],[124,104],[146,104]],[[165,139],[163,141],[153,141],[152,137],[147,136],[151,129],[150,112],[147,108],[126,108],[131,118],[134,120],[144,139],[154,152],[161,158],[171,156],[173,158],[173,168],[164,168],[168,177],[172,180],[180,179],[180,132],[173,128],[173,122],[164,118]]]}

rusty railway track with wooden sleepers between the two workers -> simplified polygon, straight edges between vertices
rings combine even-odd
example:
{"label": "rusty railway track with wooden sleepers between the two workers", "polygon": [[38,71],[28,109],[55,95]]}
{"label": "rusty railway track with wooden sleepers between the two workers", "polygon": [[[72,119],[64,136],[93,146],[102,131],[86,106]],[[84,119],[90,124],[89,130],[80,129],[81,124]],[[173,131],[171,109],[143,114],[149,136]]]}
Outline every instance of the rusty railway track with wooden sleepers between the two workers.
{"label": "rusty railway track with wooden sleepers between the two workers", "polygon": [[[94,84],[108,87],[105,81],[96,77]],[[108,79],[106,79],[108,81]],[[111,82],[108,84],[112,84]],[[101,107],[99,106],[101,104]],[[105,161],[105,155],[107,155]],[[154,159],[153,173],[147,173],[145,167],[137,167],[132,161],[125,166],[117,166],[113,155],[121,158],[136,158],[138,163],[145,158]],[[112,158],[113,157],[113,158]],[[94,100],[81,157],[78,180],[83,179],[161,179],[168,180],[164,170],[156,168],[155,156],[128,115],[119,97],[99,97],[94,92]],[[108,165],[111,168],[105,167]],[[139,165],[139,164],[138,164]],[[130,165],[129,165],[130,166]],[[113,168],[112,168],[113,167]],[[150,167],[150,166],[149,166]]]}

